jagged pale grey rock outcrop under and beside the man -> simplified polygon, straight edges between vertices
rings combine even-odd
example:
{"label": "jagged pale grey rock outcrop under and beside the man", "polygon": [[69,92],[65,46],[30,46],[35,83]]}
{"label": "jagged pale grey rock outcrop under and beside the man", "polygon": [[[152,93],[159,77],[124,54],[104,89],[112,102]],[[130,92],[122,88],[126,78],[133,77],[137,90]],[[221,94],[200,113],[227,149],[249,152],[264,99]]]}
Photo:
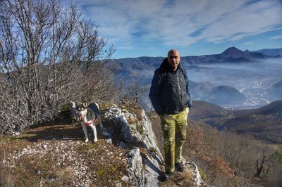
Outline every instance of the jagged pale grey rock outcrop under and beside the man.
{"label": "jagged pale grey rock outcrop under and beside the man", "polygon": [[[119,146],[130,148],[132,145],[128,153],[127,169],[132,186],[158,186],[163,157],[145,111],[140,110],[136,115],[114,105],[105,112],[104,119],[110,126],[114,126],[111,128],[118,129],[114,133],[120,138]],[[183,159],[183,164],[190,169],[193,185],[204,186],[195,163]]]}

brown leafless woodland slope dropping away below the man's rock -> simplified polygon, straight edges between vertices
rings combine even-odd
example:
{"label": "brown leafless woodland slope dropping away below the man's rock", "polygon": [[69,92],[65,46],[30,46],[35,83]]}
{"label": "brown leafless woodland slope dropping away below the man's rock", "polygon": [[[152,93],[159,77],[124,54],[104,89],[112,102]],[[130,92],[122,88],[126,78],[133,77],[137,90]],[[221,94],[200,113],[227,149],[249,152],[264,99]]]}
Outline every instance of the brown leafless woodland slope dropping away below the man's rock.
{"label": "brown leafless woodland slope dropping away below the man's rock", "polygon": [[[150,118],[159,146],[162,147],[159,117],[151,114]],[[282,157],[277,156],[282,153],[281,150],[281,145],[256,141],[252,136],[218,131],[209,124],[190,120],[183,157],[196,163],[209,185],[278,186],[282,181],[282,162],[278,164],[278,157]],[[271,160],[273,157],[276,159]],[[257,162],[258,168],[262,165],[259,178],[254,177],[257,174]]]}

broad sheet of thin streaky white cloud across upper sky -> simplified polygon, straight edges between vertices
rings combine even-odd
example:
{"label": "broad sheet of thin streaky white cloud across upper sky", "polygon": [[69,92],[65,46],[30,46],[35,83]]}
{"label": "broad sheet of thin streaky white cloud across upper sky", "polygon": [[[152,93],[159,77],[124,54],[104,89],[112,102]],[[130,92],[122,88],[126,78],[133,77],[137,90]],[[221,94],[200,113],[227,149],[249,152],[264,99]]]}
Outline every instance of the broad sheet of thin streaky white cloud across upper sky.
{"label": "broad sheet of thin streaky white cloud across upper sky", "polygon": [[188,46],[201,40],[220,43],[282,29],[280,0],[252,4],[247,0],[75,3],[86,18],[99,25],[99,32],[120,49],[148,44]]}

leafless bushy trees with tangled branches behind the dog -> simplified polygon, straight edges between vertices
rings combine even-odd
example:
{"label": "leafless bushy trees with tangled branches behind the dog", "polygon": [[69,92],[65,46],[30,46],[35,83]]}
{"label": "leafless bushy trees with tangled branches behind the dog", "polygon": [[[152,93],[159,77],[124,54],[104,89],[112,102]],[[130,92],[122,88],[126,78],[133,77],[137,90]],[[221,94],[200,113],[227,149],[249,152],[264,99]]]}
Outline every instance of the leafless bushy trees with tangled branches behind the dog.
{"label": "leafless bushy trees with tangled branches behind the dog", "polygon": [[95,82],[114,48],[81,15],[58,0],[0,1],[0,133],[53,119]]}

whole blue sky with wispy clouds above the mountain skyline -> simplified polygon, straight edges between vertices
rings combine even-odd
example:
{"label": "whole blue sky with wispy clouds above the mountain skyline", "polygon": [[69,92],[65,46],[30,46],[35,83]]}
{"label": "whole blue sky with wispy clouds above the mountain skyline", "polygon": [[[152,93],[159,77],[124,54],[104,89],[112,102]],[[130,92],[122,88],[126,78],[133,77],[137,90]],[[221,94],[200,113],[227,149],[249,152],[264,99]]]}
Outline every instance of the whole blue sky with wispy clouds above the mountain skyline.
{"label": "whole blue sky with wispy clouds above the mountain skyline", "polygon": [[114,58],[282,47],[282,0],[65,0],[99,25]]}

